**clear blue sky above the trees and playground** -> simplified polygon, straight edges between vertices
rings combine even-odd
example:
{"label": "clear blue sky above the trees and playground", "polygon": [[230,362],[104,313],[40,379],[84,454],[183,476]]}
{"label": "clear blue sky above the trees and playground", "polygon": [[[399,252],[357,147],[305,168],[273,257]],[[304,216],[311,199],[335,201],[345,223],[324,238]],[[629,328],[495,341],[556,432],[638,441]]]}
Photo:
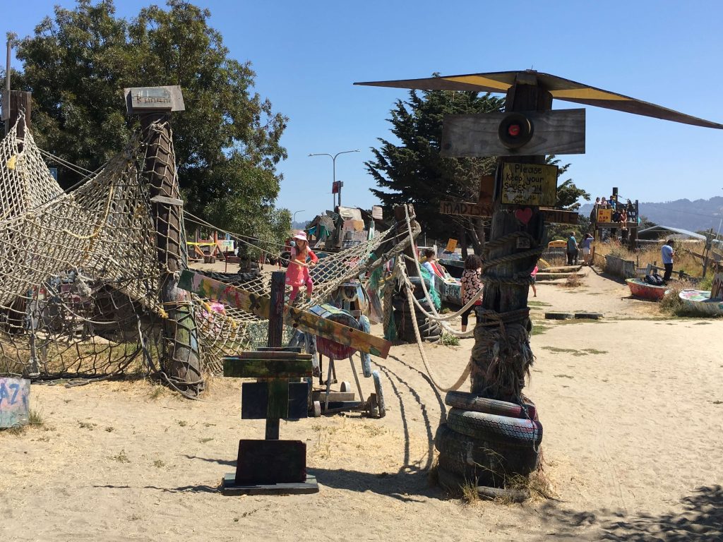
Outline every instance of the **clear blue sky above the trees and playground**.
{"label": "clear blue sky above the trees and playground", "polygon": [[[124,17],[152,1],[116,1]],[[4,6],[2,29],[20,36],[59,4]],[[165,4],[157,1],[155,4]],[[239,1],[207,0],[231,56],[252,61],[256,90],[290,118],[279,207],[313,218],[332,202],[332,161],[343,205],[370,207],[364,168],[406,90],[356,81],[533,68],[723,123],[719,1]],[[17,64],[16,64],[17,67]],[[565,102],[553,108],[576,107]],[[593,197],[641,201],[723,195],[723,130],[588,108],[586,154],[562,156]]]}

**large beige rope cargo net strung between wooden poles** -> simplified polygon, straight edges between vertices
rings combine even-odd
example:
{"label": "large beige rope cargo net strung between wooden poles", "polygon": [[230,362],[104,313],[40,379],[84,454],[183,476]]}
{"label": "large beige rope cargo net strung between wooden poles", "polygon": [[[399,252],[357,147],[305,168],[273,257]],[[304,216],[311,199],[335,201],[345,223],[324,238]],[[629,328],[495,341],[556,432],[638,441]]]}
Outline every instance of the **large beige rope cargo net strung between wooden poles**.
{"label": "large beige rope cargo net strung between wooden poles", "polygon": [[[24,137],[18,137],[19,126],[25,127],[22,116],[0,144],[0,374],[70,383],[163,375],[174,341],[164,339],[163,330],[183,304],[189,304],[198,332],[202,369],[218,373],[224,355],[265,345],[268,320],[254,314],[184,293],[171,305],[161,301],[168,260],[159,258],[155,204],[144,172],[146,142],[134,139],[81,186],[64,192],[32,134],[21,129]],[[169,148],[164,159],[172,165]],[[183,268],[182,215],[179,221]],[[393,231],[321,259],[310,269],[312,301],[300,308],[322,303],[370,270],[369,254],[390,241]],[[252,246],[270,251],[261,242]],[[270,293],[268,274],[215,278]],[[187,329],[187,322],[181,327]],[[168,377],[166,382],[174,384]]]}

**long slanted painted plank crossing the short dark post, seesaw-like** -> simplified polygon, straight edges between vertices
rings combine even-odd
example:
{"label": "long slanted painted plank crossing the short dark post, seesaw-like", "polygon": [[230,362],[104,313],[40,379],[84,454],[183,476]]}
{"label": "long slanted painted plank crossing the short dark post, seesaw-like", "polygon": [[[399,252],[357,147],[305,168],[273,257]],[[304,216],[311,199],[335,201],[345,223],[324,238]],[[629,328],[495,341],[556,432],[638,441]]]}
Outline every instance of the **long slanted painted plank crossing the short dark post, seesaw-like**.
{"label": "long slanted painted plank crossing the short dark post, seesaw-like", "polygon": [[[256,293],[241,290],[241,288],[188,270],[181,272],[178,287],[205,298],[218,299],[218,301],[255,314],[260,318],[268,319],[269,317],[270,298],[268,296],[259,296]],[[369,335],[354,327],[317,317],[315,314],[294,309],[288,305],[284,305],[283,319],[285,324],[296,329],[350,346],[354,350],[367,352],[380,358],[386,358],[389,355],[391,343],[388,340]]]}

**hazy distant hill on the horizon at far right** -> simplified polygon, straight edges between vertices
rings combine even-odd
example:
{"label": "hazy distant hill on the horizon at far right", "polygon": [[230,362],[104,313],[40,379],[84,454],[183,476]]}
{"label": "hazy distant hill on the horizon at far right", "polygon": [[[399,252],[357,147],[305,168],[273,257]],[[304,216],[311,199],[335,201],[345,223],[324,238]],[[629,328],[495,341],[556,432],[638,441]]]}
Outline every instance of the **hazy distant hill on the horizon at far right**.
{"label": "hazy distant hill on the horizon at far right", "polygon": [[[589,215],[592,204],[581,205],[582,215]],[[723,218],[723,197],[711,199],[676,199],[674,202],[640,202],[640,214],[659,225],[683,228],[690,231],[718,231]]]}

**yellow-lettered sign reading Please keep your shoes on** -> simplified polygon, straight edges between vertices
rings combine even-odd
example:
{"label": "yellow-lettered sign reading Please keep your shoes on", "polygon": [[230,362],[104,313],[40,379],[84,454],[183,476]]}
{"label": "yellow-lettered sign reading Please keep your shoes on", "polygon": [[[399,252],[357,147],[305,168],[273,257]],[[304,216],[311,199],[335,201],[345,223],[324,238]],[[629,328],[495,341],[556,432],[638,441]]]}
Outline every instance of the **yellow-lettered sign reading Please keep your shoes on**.
{"label": "yellow-lettered sign reading Please keep your shoes on", "polygon": [[557,165],[502,165],[502,204],[553,206],[557,202]]}

